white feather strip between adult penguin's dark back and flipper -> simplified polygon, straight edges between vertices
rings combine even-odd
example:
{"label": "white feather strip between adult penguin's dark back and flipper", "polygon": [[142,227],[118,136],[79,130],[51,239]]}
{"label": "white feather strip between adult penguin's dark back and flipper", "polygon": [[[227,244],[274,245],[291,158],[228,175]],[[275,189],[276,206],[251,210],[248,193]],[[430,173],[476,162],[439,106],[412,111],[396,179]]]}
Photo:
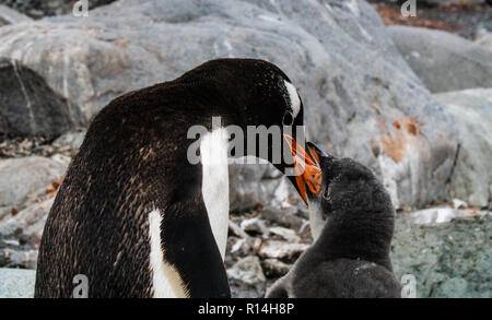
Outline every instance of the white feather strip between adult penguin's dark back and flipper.
{"label": "white feather strip between adult penguin's dark back and flipper", "polygon": [[187,298],[189,295],[181,276],[174,265],[164,260],[161,241],[162,216],[159,210],[149,213],[150,264],[154,298]]}

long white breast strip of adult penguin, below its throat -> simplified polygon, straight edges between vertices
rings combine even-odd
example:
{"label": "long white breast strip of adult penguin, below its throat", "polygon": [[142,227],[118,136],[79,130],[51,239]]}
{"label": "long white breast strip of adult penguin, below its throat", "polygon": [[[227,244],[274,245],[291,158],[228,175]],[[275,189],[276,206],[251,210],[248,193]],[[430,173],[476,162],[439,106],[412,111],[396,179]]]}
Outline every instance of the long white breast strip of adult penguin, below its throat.
{"label": "long white breast strip of adult penguin, below its throat", "polygon": [[201,192],[207,208],[213,237],[225,257],[229,229],[229,135],[225,128],[218,128],[201,138],[202,165]]}

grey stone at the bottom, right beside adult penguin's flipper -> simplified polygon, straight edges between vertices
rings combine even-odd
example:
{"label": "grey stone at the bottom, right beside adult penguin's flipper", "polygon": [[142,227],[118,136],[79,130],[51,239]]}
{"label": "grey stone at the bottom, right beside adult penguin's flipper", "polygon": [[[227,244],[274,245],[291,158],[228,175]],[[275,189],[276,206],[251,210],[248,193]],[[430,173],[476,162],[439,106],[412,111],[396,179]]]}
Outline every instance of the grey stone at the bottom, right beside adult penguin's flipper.
{"label": "grey stone at the bottom, right beside adult penguin's flipper", "polygon": [[227,270],[231,295],[234,298],[265,296],[266,277],[258,257],[246,257]]}

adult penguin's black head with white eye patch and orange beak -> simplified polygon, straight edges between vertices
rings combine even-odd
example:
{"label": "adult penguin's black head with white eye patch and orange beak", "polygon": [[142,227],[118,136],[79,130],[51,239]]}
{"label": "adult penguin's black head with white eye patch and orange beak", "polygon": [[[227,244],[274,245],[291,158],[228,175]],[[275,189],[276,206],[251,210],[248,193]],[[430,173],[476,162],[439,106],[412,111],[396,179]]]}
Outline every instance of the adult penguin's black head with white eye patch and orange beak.
{"label": "adult penguin's black head with white eye patch and orange beak", "polygon": [[[307,204],[307,190],[319,193],[321,171],[317,161],[305,149],[304,106],[289,76],[277,66],[263,60],[242,60],[242,105],[245,127],[263,126],[271,137],[258,137],[255,156],[265,158],[288,175],[301,198]],[[248,84],[248,85],[245,85]],[[274,129],[278,128],[278,131]],[[277,135],[277,139],[273,138]],[[268,155],[258,146],[260,139],[268,145]]]}

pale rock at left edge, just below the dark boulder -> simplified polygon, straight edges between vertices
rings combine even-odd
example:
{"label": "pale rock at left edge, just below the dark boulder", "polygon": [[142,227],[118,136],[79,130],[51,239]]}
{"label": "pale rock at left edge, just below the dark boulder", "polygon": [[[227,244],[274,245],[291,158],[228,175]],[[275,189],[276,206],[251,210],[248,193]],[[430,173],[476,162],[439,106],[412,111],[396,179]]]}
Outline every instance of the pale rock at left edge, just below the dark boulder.
{"label": "pale rock at left edge, just below the dark boulder", "polygon": [[12,208],[23,210],[46,194],[47,188],[65,170],[60,163],[39,156],[0,159],[0,220]]}

